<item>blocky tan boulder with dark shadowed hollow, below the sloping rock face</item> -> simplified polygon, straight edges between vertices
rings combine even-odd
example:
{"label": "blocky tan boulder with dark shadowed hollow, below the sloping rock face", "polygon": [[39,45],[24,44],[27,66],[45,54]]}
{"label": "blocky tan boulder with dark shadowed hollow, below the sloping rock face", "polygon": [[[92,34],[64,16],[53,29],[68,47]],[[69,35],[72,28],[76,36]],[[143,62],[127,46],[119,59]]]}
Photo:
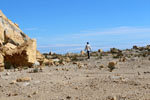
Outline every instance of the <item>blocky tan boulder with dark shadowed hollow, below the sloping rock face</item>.
{"label": "blocky tan boulder with dark shadowed hollow, below the sloping rock face", "polygon": [[4,51],[4,54],[5,62],[13,67],[31,67],[36,61],[36,40],[28,40],[16,48]]}

